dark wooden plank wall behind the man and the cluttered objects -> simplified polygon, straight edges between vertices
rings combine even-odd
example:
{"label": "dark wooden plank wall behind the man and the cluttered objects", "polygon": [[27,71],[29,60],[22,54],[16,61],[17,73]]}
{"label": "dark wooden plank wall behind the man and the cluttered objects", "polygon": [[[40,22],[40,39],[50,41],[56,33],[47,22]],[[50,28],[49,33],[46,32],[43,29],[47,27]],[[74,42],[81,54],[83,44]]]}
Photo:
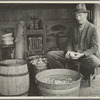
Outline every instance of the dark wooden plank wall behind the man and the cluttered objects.
{"label": "dark wooden plank wall behind the man and the cluttered objects", "polygon": [[[47,35],[52,33],[51,27],[56,24],[64,25],[65,33],[70,34],[69,30],[75,22],[73,14],[75,6],[76,4],[0,4],[0,30],[6,27],[16,29],[20,20],[28,22],[31,16],[36,16],[42,20]],[[91,5],[88,5],[88,9],[91,10],[91,8]],[[92,18],[91,14],[88,18]],[[2,34],[0,31],[0,36]],[[47,46],[50,45],[47,44]]]}

